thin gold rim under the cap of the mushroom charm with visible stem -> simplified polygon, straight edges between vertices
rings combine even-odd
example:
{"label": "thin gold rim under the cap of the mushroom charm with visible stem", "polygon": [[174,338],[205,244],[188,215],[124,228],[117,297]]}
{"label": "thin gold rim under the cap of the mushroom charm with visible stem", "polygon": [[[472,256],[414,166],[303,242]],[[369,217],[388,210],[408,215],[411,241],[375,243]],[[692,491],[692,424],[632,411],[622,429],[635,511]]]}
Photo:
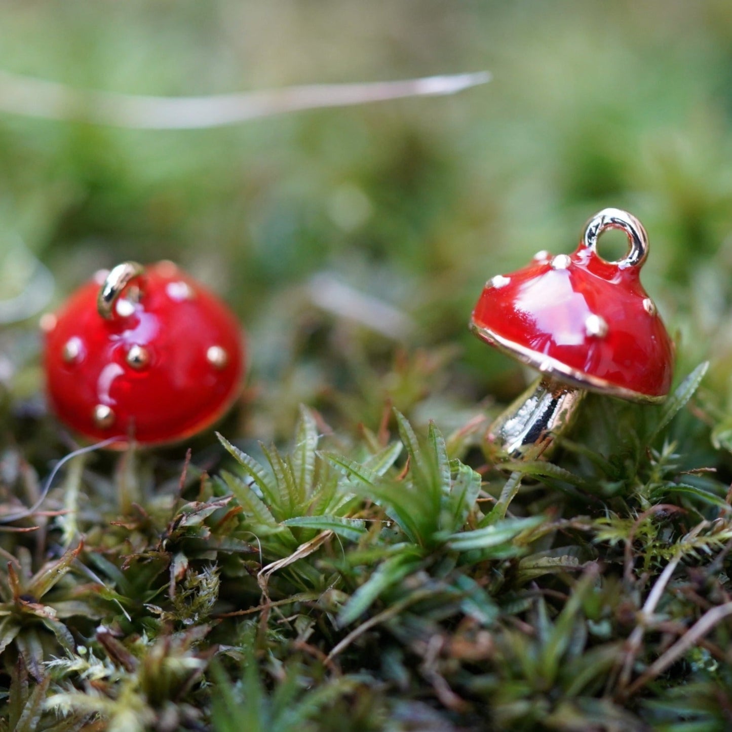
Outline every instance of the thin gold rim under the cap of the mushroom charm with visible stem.
{"label": "thin gold rim under the cap of the mushroom charm with visible stem", "polygon": [[507,356],[511,356],[521,363],[537,369],[540,373],[553,376],[558,381],[563,381],[565,384],[575,386],[578,389],[587,389],[591,392],[597,392],[598,394],[617,397],[618,399],[639,404],[660,404],[668,396],[668,394],[658,396],[643,394],[641,392],[634,392],[632,389],[627,389],[625,386],[617,386],[616,384],[610,383],[607,379],[592,376],[580,369],[567,366],[552,356],[539,354],[537,351],[532,351],[531,348],[521,346],[520,343],[515,343],[508,338],[496,334],[490,328],[479,326],[473,320],[470,321],[470,329],[481,340],[485,340],[485,343],[493,346],[493,348],[501,351],[501,353],[507,354]]}

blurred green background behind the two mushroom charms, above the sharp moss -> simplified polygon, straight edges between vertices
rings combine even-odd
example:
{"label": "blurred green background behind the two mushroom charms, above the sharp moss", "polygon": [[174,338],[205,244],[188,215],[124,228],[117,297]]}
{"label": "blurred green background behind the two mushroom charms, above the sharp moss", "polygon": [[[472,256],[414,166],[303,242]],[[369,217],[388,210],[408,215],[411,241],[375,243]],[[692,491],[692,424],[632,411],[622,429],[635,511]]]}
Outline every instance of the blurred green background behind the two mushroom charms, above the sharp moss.
{"label": "blurred green background behind the two mushroom charms, above the sharp moss", "polygon": [[[300,401],[376,427],[386,397],[449,425],[511,397],[519,368],[466,329],[482,284],[572,251],[605,206],[649,231],[643,281],[679,373],[711,357],[707,389],[729,406],[728,0],[10,1],[0,69],[159,95],[493,73],[452,97],[215,130],[0,114],[1,234],[51,269],[56,303],[125,259],[209,283],[249,333],[248,436],[287,434]],[[16,294],[0,264],[0,295]],[[322,307],[334,283],[348,289]],[[359,294],[394,309],[386,332],[347,317]],[[0,340],[24,398],[40,389],[34,327]]]}

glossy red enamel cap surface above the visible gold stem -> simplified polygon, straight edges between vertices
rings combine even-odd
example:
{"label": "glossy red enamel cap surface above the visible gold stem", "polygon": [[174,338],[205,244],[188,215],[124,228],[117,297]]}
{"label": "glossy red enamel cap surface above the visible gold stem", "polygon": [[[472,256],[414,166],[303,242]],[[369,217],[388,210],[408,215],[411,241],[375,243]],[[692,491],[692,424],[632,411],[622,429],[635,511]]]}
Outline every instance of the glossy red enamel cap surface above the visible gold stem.
{"label": "glossy red enamel cap surface above the visible gold stem", "polygon": [[[567,269],[553,269],[550,261],[550,256],[534,261],[498,287],[489,284],[472,324],[515,344],[524,355],[530,351],[533,357],[524,360],[537,367],[542,357],[556,359],[582,376],[637,395],[668,394],[673,345],[659,315],[643,307],[648,296],[640,267],[621,269],[581,246]],[[593,314],[608,326],[602,337],[586,332]]]}

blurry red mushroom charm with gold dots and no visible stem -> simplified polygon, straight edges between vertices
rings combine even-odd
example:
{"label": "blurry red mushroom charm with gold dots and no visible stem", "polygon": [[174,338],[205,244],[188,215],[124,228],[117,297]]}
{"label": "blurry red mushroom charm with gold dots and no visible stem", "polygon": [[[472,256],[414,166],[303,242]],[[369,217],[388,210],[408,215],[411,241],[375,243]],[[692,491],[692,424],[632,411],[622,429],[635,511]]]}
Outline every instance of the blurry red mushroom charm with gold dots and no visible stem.
{"label": "blurry red mushroom charm with gold dots and no visible stem", "polygon": [[152,445],[203,430],[242,383],[244,342],[223,302],[172,262],[134,262],[42,318],[48,399],[83,436]]}

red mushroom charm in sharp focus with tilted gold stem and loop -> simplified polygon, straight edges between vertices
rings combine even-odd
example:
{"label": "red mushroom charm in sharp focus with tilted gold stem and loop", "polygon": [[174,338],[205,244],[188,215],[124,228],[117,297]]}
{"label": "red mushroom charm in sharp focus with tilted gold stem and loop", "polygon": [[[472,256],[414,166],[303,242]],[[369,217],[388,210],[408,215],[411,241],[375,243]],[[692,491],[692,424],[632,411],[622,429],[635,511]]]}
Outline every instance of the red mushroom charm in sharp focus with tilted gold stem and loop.
{"label": "red mushroom charm in sharp focus with tilted gold stem and loop", "polygon": [[[598,237],[610,228],[628,237],[629,251],[619,261],[597,253]],[[638,219],[603,209],[572,255],[542,251],[529,266],[488,280],[471,329],[542,374],[490,426],[490,452],[546,457],[588,390],[641,403],[668,395],[673,344],[641,285],[648,250]]]}

